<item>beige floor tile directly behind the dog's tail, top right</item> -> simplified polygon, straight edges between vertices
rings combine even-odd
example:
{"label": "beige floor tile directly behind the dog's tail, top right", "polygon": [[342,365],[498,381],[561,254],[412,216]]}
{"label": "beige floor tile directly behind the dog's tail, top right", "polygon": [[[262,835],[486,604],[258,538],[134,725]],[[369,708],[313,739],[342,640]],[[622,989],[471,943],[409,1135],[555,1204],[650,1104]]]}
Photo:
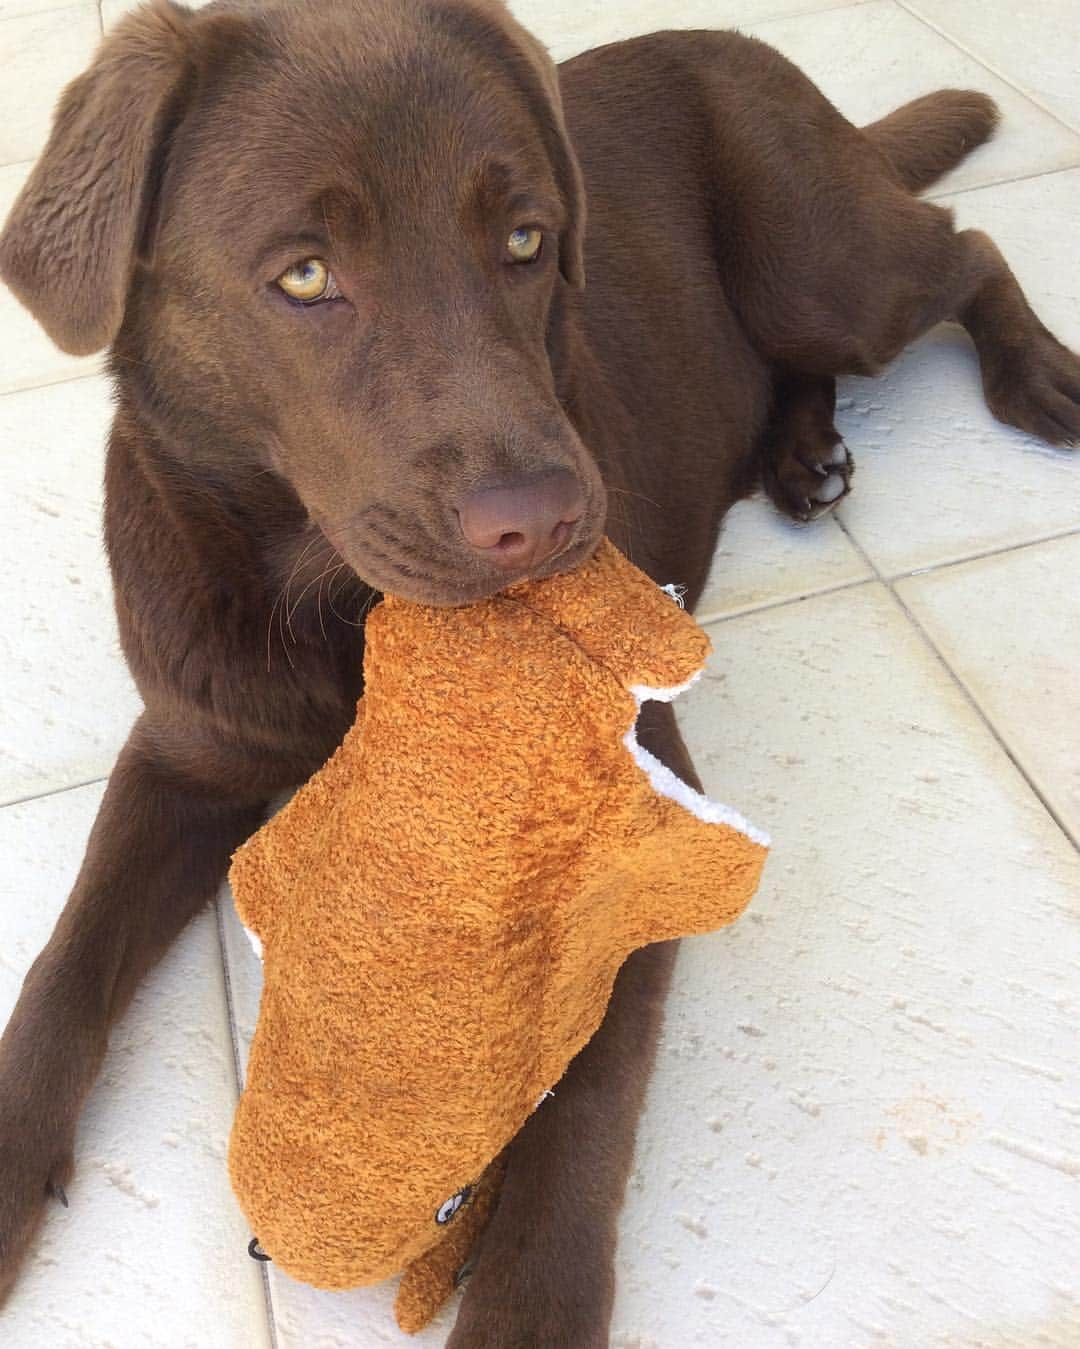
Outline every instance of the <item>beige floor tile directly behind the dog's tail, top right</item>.
{"label": "beige floor tile directly behind the dog's tail, top right", "polygon": [[1075,132],[889,0],[754,24],[750,31],[794,61],[858,124],[933,89],[991,94],[1004,119],[998,135],[936,190],[956,192],[1080,163]]}

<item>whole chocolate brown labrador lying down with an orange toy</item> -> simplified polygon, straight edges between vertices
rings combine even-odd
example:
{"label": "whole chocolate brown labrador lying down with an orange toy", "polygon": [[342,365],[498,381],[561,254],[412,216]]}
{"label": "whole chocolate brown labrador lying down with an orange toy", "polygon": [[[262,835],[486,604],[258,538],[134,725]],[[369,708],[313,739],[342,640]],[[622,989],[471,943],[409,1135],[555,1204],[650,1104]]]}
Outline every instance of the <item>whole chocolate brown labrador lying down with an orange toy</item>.
{"label": "whole chocolate brown labrador lying down with an orange toy", "polygon": [[[607,532],[693,604],[733,500],[806,519],[848,491],[835,378],[940,320],[999,418],[1080,436],[1080,362],[916,196],[995,119],[942,92],[856,128],[735,34],[557,74],[498,0],[117,24],[0,241],[61,347],[111,349],[105,536],[146,703],[0,1043],[0,1292],[63,1201],[109,1025],[349,726],[378,592],[476,599]],[[607,1342],[671,960],[626,965],[515,1140],[453,1346]]]}

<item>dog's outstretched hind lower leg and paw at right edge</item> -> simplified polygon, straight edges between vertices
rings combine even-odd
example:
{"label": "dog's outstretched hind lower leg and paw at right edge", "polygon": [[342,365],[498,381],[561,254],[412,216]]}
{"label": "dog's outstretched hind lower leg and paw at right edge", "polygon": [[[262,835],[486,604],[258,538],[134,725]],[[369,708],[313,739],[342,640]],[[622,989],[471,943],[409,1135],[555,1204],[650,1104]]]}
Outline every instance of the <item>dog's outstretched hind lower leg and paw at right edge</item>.
{"label": "dog's outstretched hind lower leg and paw at right edge", "polygon": [[948,317],[975,341],[990,410],[1052,445],[1076,445],[1080,357],[1040,322],[992,239],[967,229],[956,241],[960,268]]}

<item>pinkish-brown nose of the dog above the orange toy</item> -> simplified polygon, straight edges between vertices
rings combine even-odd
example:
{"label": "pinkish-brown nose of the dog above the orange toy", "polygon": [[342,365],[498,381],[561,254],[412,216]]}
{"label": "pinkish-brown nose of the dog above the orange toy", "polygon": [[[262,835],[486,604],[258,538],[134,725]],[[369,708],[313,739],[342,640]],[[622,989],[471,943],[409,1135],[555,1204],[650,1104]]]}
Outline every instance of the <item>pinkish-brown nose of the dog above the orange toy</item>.
{"label": "pinkish-brown nose of the dog above the orange toy", "polygon": [[496,567],[522,571],[561,552],[585,514],[585,498],[566,468],[530,473],[500,487],[477,487],[458,511],[461,532]]}

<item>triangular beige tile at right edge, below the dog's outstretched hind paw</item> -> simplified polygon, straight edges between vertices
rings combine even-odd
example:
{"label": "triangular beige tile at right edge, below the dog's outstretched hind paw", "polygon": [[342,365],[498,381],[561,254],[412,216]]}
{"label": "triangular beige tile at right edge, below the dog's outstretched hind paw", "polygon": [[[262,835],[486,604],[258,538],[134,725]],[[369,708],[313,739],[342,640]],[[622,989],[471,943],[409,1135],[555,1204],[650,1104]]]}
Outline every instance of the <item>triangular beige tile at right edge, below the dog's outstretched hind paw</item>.
{"label": "triangular beige tile at right edge, below the dog's outstretched hind paw", "polygon": [[1080,842],[1080,534],[898,584]]}

